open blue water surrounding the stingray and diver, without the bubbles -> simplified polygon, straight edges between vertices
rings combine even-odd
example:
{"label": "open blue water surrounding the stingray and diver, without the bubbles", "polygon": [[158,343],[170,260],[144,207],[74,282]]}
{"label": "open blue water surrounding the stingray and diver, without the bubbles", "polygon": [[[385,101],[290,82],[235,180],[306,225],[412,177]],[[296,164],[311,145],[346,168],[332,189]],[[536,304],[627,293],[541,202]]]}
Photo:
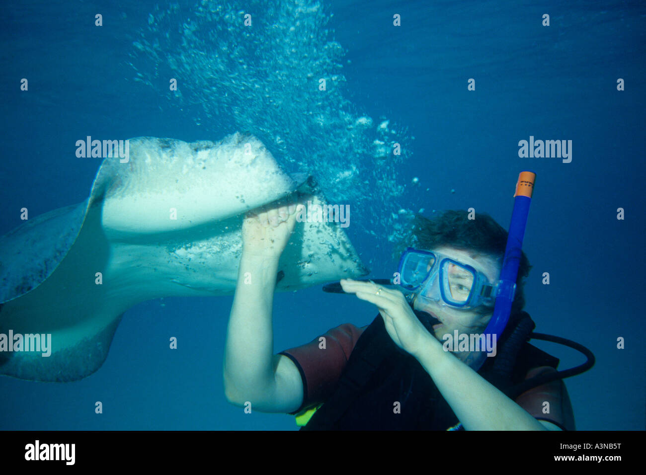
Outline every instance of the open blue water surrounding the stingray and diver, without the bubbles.
{"label": "open blue water surrounding the stingray and diver, without the bubbles", "polygon": [[[193,2],[180,5],[190,10]],[[404,191],[384,204],[388,222],[397,222],[391,213],[400,207],[424,208],[428,216],[474,207],[507,227],[517,174],[536,171],[524,246],[534,266],[526,310],[538,332],[574,339],[596,354],[592,370],[566,380],[578,428],[643,430],[643,3],[322,6],[334,14],[328,28],[349,60],[344,97],[375,124],[383,116],[407,128],[409,155],[397,165],[396,178]],[[190,142],[234,132],[209,127],[208,120],[196,124],[196,111],[132,80],[128,34],[147,24],[153,8],[148,1],[0,6],[0,235],[20,224],[23,206],[36,216],[87,198],[99,160],[74,156],[79,138]],[[103,14],[101,28],[94,26],[96,13]],[[402,16],[399,28],[392,25],[395,13]],[[551,16],[548,28],[541,26],[544,13]],[[29,79],[28,93],[19,90],[21,78]],[[468,78],[475,78],[475,92],[466,89]],[[618,78],[625,79],[623,92],[616,90]],[[517,142],[530,135],[572,140],[572,162],[518,158]],[[322,163],[313,173],[330,170]],[[373,193],[359,179],[353,187],[368,198]],[[616,219],[618,207],[625,220]],[[390,275],[396,262],[388,229],[380,224],[373,237],[365,227],[349,227],[353,244],[371,275]],[[550,285],[541,284],[544,272]],[[130,309],[107,360],[82,381],[0,377],[0,428],[295,429],[291,416],[244,414],[225,400],[222,354],[231,301],[174,298]],[[275,350],[307,343],[344,322],[368,324],[375,314],[370,304],[320,287],[279,293]],[[169,350],[169,335],[178,338],[178,350]],[[625,339],[623,350],[616,348],[618,337]],[[561,358],[561,369],[582,361],[568,348],[536,346]],[[95,414],[96,401],[103,414]]]}

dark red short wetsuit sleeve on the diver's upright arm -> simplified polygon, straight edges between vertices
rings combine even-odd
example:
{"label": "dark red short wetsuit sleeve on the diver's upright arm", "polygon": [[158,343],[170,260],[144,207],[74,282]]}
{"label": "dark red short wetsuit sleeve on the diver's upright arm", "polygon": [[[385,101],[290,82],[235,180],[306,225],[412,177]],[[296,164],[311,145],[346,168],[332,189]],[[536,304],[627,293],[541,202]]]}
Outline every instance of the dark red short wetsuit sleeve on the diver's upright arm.
{"label": "dark red short wetsuit sleeve on the diver's upright arm", "polygon": [[303,403],[296,412],[325,402],[333,393],[363,330],[345,323],[321,335],[325,337],[325,348],[320,348],[322,341],[316,337],[310,343],[279,353],[296,364],[303,381]]}

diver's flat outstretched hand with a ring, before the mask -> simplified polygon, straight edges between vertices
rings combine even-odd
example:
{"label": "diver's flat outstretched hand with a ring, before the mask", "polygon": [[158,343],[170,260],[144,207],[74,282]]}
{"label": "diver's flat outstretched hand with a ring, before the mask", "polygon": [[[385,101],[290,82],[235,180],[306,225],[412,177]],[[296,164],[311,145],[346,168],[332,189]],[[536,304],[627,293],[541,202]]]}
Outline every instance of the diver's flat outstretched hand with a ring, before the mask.
{"label": "diver's flat outstretched hand with a ring, before the mask", "polygon": [[377,306],[388,335],[399,348],[413,356],[418,354],[430,333],[417,319],[401,291],[352,279],[341,279],[340,283],[346,293],[354,293],[359,299]]}

